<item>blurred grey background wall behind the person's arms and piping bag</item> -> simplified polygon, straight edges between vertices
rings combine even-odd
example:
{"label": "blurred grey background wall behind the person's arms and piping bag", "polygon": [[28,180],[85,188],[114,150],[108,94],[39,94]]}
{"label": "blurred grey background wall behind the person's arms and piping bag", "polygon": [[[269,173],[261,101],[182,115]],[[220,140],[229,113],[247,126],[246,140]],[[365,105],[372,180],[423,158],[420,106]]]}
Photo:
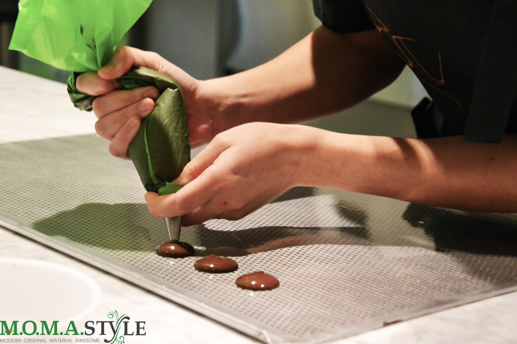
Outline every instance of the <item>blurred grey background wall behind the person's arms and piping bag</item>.
{"label": "blurred grey background wall behind the person's arms and piping bag", "polygon": [[[0,56],[6,56],[12,5],[17,1],[0,3],[11,8],[9,17],[2,15],[8,11],[0,5],[0,50],[4,51]],[[310,0],[154,0],[122,44],[155,51],[194,77],[210,79],[260,65],[319,25]],[[68,77],[69,72],[8,54],[1,64],[61,82]],[[367,103],[311,125],[359,134],[413,136],[409,110],[426,94],[406,68]]]}

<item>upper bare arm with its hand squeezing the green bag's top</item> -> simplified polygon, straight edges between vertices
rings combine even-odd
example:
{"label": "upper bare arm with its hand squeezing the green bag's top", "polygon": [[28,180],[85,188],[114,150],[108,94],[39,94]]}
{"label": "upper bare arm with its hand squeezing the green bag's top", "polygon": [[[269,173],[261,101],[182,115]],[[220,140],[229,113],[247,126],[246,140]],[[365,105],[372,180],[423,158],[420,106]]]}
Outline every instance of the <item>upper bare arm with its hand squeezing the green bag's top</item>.
{"label": "upper bare arm with its hand squeezing the green bag's top", "polygon": [[324,27],[262,66],[207,81],[195,80],[158,54],[121,47],[98,73],[77,81],[79,90],[99,96],[93,104],[96,131],[111,140],[117,157],[127,158],[140,119],[153,111],[158,97],[149,87],[117,90],[115,79],[135,66],[178,81],[196,147],[241,123],[303,122],[353,106],[390,84],[404,64],[375,31],[341,35]]}

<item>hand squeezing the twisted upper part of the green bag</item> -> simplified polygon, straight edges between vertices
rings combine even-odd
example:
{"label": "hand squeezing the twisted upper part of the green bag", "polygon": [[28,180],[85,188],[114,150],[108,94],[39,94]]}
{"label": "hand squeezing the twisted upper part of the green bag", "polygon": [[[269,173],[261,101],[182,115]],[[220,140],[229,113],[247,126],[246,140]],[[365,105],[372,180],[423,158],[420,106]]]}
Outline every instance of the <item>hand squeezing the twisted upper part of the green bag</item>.
{"label": "hand squeezing the twisted upper part of the green bag", "polygon": [[141,66],[170,75],[178,82],[187,106],[191,147],[209,142],[214,136],[213,121],[202,108],[203,102],[196,102],[199,81],[156,53],[122,46],[106,66],[98,72],[81,74],[76,83],[79,91],[98,96],[92,104],[98,118],[95,131],[111,141],[110,153],[128,158],[128,146],[138,133],[141,119],[153,112],[154,101],[159,97],[155,87],[120,89],[115,79]]}

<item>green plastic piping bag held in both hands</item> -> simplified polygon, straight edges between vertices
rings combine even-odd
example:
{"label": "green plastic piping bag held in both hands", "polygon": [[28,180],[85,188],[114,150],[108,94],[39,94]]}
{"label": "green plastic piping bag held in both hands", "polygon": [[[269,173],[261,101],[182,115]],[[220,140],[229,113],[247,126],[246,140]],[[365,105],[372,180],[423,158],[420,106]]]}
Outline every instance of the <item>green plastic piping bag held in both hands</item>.
{"label": "green plastic piping bag held in both hands", "polygon": [[[75,87],[81,72],[107,64],[121,37],[150,5],[151,0],[21,0],[9,49],[72,71],[67,89],[73,104],[91,111],[95,97]],[[155,86],[160,97],[155,110],[142,121],[129,146],[129,156],[147,191],[174,193],[171,184],[190,161],[185,101],[170,76],[138,68],[121,76],[125,88]]]}

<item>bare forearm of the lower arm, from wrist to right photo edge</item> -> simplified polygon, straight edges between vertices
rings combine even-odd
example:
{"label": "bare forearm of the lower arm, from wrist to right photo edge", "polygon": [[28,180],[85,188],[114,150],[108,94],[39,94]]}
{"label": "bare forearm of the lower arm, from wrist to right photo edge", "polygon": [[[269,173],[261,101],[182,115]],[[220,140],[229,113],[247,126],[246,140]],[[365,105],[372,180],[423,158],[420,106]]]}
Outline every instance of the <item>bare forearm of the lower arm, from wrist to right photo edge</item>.
{"label": "bare forearm of the lower arm, from wrist to right photo edge", "polygon": [[316,131],[302,184],[430,206],[517,212],[517,138],[501,145]]}

